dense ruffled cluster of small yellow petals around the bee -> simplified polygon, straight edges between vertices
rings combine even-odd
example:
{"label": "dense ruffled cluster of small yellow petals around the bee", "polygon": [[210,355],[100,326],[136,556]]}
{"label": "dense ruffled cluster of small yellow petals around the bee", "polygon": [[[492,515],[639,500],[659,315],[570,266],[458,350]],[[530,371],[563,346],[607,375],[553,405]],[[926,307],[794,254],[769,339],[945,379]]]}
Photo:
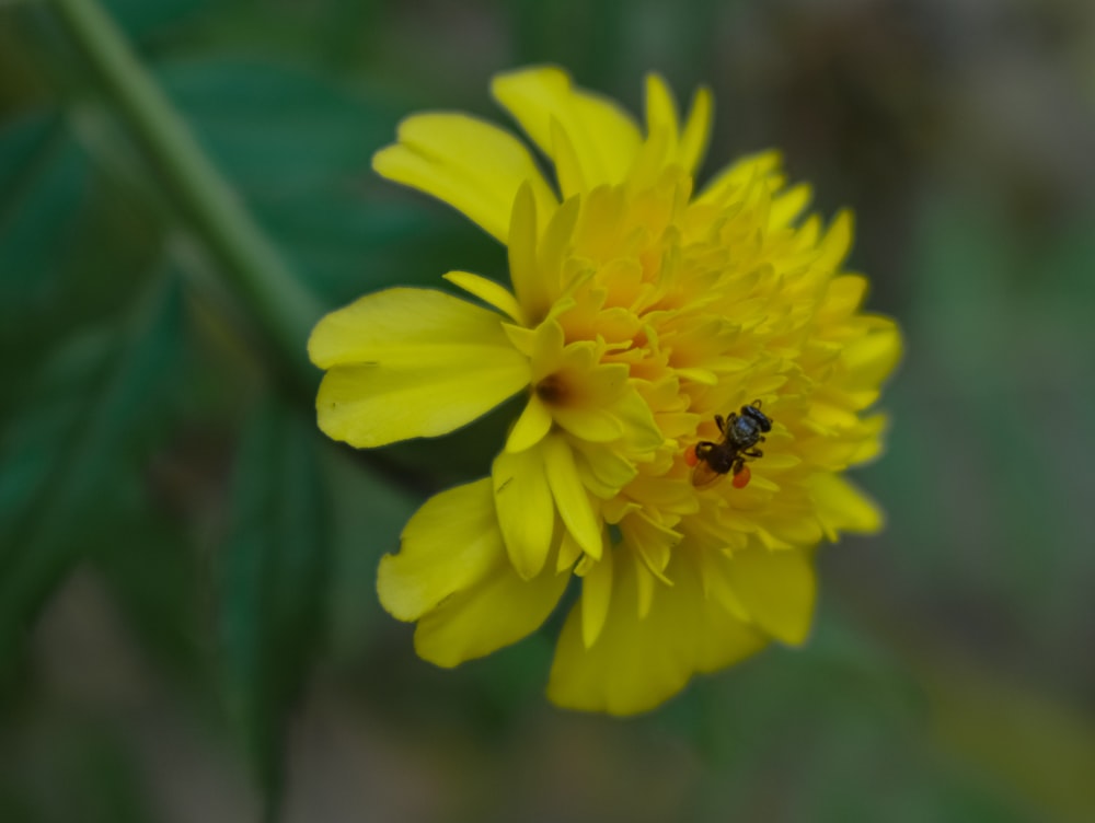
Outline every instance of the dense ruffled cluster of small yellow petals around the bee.
{"label": "dense ruffled cluster of small yellow petals around the bee", "polygon": [[[529,406],[541,410],[522,415],[507,449],[534,445],[528,418],[541,436],[561,431],[599,517],[642,559],[641,579],[667,583],[685,533],[715,537],[715,550],[819,538],[811,476],[872,452],[880,429],[856,415],[874,397],[827,389],[814,408],[809,372],[837,368],[840,355],[829,340],[869,331],[831,323],[858,308],[848,300],[857,278],[834,278],[846,218],[825,233],[816,219],[794,225],[804,190],[783,190],[771,154],[740,163],[699,198],[691,187],[677,166],[648,188],[599,186],[564,204],[565,218],[553,216],[534,248],[519,247],[516,212],[510,239],[511,258],[538,263],[529,309],[539,303],[545,320],[525,333]],[[775,426],[749,488],[698,491],[688,447],[717,440],[715,416],[753,401]],[[818,414],[837,425],[819,430]],[[819,439],[829,442],[817,448]],[[854,449],[840,455],[841,440]],[[804,448],[826,460],[808,465]],[[682,524],[689,519],[702,522]]]}

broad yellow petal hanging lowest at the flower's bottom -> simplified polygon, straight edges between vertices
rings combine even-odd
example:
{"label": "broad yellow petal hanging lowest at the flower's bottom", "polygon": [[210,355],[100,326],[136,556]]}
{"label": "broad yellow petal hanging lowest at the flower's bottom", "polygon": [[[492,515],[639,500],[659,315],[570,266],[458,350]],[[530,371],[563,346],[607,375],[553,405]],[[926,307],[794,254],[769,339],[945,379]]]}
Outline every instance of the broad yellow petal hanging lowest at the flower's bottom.
{"label": "broad yellow petal hanging lowest at the flower's bottom", "polygon": [[[675,556],[675,586],[658,586],[649,613],[638,617],[636,565],[616,556],[608,618],[593,644],[583,642],[585,600],[575,605],[555,650],[548,697],[564,708],[634,715],[654,708],[688,683],[752,653],[763,639],[704,600],[692,560]],[[715,644],[725,644],[715,649]]]}

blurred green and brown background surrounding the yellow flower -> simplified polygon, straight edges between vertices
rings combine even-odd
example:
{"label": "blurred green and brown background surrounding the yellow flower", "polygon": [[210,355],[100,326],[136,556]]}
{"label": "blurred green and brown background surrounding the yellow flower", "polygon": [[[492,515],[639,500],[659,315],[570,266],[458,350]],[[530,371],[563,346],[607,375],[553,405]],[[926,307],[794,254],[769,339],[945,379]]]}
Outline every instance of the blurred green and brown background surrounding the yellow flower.
{"label": "blurred green and brown background surrounding the yellow flower", "polygon": [[[1095,4],[104,0],[231,189],[89,7],[0,3],[0,821],[1095,820]],[[810,644],[630,721],[544,702],[557,619],[442,672],[377,604],[510,410],[355,454],[300,362],[361,293],[504,274],[369,160],[534,61],[712,85],[707,174],[782,148],[908,335],[888,529],[821,553]]]}

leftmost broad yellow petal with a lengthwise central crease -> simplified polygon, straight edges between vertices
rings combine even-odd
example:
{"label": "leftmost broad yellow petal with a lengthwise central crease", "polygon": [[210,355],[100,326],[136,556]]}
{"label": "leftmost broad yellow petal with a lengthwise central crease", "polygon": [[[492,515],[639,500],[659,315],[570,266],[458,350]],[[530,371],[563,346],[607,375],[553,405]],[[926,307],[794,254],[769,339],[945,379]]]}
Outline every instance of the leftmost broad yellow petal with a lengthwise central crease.
{"label": "leftmost broad yellow petal with a lengthwise central crease", "polygon": [[332,312],[308,350],[330,370],[320,428],[359,448],[445,434],[529,381],[497,314],[425,289],[389,289]]}

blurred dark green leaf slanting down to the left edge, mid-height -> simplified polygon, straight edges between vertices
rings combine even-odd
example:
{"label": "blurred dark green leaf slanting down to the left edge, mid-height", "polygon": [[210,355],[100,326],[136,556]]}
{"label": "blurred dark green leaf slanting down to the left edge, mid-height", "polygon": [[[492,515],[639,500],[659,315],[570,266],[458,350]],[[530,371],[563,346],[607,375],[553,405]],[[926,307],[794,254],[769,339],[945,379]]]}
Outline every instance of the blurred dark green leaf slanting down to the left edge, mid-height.
{"label": "blurred dark green leaf slanting down to the left edge, mid-height", "polygon": [[134,465],[170,385],[180,321],[177,283],[164,278],[119,332],[66,340],[4,432],[0,648],[18,639],[85,555],[92,525],[103,525],[103,502]]}

